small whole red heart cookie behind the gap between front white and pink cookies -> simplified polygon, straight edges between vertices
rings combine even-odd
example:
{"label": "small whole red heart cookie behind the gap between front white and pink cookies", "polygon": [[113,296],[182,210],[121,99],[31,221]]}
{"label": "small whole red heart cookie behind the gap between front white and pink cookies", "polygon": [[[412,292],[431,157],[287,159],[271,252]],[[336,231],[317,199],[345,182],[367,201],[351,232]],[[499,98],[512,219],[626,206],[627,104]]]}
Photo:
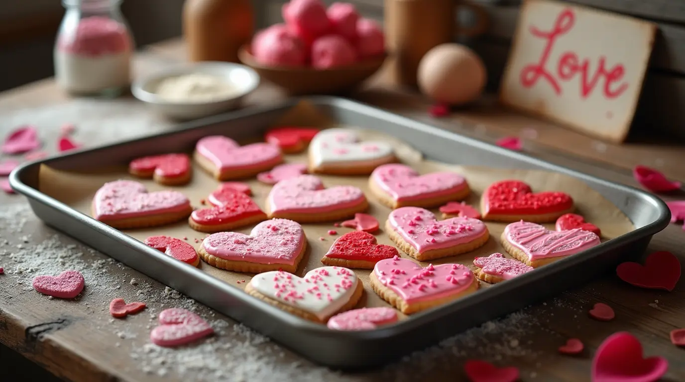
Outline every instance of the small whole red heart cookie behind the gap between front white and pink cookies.
{"label": "small whole red heart cookie behind the gap between front white and pink cookies", "polygon": [[392,259],[397,255],[399,253],[394,246],[377,244],[371,233],[354,231],[340,236],[321,258],[321,262],[329,266],[373,269],[380,260]]}

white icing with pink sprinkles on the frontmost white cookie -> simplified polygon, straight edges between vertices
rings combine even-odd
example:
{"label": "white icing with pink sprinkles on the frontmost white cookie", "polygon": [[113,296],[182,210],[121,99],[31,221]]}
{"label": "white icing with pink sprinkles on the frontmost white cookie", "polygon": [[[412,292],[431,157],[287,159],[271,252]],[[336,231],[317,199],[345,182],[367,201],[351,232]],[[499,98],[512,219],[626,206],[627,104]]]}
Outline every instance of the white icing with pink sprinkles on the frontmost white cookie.
{"label": "white icing with pink sprinkles on the frontmost white cookie", "polygon": [[[322,270],[327,272],[328,275],[321,275]],[[347,277],[343,273],[346,273]],[[289,280],[287,279],[288,276],[290,277]],[[277,280],[275,280],[276,277]],[[306,280],[309,280],[309,282]],[[275,285],[279,285],[282,288],[282,283],[284,282],[289,283],[287,290],[294,290],[300,298],[288,298],[287,293],[276,288]],[[343,288],[342,285],[344,283],[350,282],[349,288]],[[323,285],[324,283],[326,286]],[[252,288],[264,294],[264,296],[273,298],[286,305],[309,311],[321,320],[332,316],[336,311],[340,310],[352,297],[358,283],[359,280],[354,272],[339,266],[316,268],[307,272],[303,278],[288,272],[272,270],[271,272],[260,273],[250,281]],[[314,290],[314,287],[318,287],[318,291]],[[279,293],[279,291],[281,292]],[[321,293],[321,298],[317,297],[317,292]],[[328,294],[330,294],[330,299]]]}

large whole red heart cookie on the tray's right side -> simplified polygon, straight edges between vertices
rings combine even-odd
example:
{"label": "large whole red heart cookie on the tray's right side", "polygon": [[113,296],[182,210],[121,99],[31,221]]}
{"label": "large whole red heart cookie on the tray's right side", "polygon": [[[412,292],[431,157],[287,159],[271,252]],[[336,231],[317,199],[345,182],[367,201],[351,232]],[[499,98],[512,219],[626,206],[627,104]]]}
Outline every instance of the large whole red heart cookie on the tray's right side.
{"label": "large whole red heart cookie on the tray's right side", "polygon": [[564,192],[533,194],[526,183],[507,180],[491,184],[481,198],[484,220],[553,222],[573,212],[573,199]]}

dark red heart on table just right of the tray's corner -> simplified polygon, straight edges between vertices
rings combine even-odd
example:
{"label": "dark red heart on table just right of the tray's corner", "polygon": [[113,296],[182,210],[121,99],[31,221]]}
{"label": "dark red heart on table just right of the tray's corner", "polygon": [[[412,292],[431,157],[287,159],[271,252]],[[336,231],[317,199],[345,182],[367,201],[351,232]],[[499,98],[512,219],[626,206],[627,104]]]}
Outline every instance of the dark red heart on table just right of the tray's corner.
{"label": "dark red heart on table just right of the tray's corner", "polygon": [[640,288],[665,289],[671,292],[680,279],[680,261],[668,251],[647,256],[645,265],[625,262],[616,267],[616,275]]}

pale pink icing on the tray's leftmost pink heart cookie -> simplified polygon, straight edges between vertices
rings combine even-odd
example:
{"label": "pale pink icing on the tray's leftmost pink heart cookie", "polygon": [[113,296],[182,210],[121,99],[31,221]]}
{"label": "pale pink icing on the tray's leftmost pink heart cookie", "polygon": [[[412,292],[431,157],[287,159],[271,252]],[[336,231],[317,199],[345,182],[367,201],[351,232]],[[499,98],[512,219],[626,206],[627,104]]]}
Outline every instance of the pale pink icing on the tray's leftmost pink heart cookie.
{"label": "pale pink icing on the tray's leftmost pink heart cookie", "polygon": [[147,192],[142,183],[127,180],[105,183],[92,203],[95,218],[102,221],[190,209],[190,201],[180,192]]}

